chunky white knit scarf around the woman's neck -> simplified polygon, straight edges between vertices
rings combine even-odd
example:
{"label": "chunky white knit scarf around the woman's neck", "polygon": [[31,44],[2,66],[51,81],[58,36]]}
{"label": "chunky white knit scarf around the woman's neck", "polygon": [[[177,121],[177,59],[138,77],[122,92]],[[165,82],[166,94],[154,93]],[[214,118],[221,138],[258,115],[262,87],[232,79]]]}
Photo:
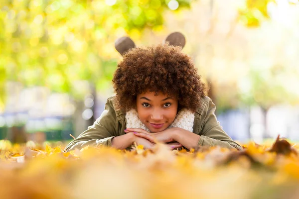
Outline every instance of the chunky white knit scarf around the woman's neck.
{"label": "chunky white knit scarf around the woman's neck", "polygon": [[[138,113],[135,109],[131,109],[130,111],[126,112],[126,120],[127,128],[142,128],[150,132],[146,125],[143,124],[139,119]],[[176,114],[175,119],[168,128],[178,127],[192,132],[193,122],[194,114],[190,110],[183,108]]]}

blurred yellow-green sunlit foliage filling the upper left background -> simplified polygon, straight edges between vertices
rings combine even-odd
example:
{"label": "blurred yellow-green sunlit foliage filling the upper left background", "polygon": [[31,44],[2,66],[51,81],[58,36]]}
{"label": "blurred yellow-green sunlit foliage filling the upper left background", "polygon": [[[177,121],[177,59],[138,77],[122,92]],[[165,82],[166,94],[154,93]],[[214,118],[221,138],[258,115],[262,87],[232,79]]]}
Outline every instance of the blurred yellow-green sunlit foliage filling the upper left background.
{"label": "blurred yellow-green sunlit foliage filling the upper left background", "polygon": [[[114,41],[161,30],[164,10],[191,0],[1,0],[0,108],[6,81],[80,96],[76,81],[107,89],[120,58]],[[108,87],[109,88],[109,87]],[[82,96],[80,96],[82,98]]]}

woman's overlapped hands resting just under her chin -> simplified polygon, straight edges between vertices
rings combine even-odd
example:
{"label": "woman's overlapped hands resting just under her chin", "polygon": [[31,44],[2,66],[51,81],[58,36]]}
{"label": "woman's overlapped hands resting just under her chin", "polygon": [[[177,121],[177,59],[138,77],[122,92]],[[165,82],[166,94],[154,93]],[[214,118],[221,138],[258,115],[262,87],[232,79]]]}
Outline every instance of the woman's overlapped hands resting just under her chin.
{"label": "woman's overlapped hands resting just under her chin", "polygon": [[179,148],[182,145],[178,142],[175,142],[173,139],[173,131],[171,129],[166,129],[164,131],[158,132],[158,133],[149,133],[148,131],[141,129],[141,128],[127,128],[125,130],[126,133],[134,133],[134,135],[145,138],[149,140],[152,143],[165,143],[170,148]]}

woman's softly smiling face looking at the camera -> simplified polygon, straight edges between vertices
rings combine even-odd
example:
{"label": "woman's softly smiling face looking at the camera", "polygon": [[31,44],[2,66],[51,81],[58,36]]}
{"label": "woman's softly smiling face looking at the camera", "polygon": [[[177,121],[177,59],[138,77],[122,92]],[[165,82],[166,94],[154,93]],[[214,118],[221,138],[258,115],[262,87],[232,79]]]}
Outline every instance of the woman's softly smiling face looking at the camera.
{"label": "woman's softly smiling face looking at the camera", "polygon": [[150,132],[156,133],[165,130],[175,119],[177,100],[155,92],[137,95],[137,112],[139,119]]}

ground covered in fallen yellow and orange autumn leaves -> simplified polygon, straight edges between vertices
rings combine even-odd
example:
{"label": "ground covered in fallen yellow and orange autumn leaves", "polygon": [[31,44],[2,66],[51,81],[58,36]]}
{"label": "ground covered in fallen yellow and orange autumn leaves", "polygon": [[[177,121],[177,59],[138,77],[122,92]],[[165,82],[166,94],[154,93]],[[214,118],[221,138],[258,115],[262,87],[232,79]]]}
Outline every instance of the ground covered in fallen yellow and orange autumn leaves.
{"label": "ground covered in fallen yellow and orange autumn leaves", "polygon": [[298,147],[243,145],[190,151],[86,147],[37,149],[0,141],[3,199],[298,199]]}

